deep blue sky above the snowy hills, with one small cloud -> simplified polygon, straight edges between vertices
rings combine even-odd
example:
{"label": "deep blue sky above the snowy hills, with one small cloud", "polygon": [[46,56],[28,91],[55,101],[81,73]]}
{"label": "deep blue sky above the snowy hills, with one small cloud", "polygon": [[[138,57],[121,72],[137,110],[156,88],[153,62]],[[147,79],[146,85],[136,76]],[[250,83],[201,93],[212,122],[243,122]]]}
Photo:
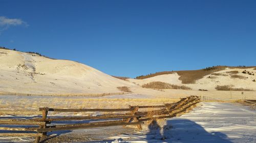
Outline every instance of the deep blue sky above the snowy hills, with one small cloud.
{"label": "deep blue sky above the snowy hills, with one small cloud", "polygon": [[0,6],[0,46],[110,75],[256,65],[256,1],[1,0]]}

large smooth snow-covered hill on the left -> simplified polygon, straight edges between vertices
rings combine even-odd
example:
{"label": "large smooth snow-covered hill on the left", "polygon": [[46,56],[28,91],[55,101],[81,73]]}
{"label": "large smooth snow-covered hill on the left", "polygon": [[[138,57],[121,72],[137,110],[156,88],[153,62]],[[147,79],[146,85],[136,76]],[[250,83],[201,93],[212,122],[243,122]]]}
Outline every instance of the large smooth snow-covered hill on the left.
{"label": "large smooth snow-covered hill on the left", "polygon": [[101,94],[138,87],[90,66],[52,60],[34,53],[0,49],[0,92],[22,94]]}

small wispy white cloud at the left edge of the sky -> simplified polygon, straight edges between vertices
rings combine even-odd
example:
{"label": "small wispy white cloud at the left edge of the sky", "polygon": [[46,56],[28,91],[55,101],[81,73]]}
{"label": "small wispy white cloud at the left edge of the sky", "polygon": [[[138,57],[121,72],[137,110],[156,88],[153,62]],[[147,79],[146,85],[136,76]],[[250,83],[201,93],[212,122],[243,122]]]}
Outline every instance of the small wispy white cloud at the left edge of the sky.
{"label": "small wispy white cloud at the left edge of the sky", "polygon": [[0,16],[0,34],[1,32],[7,30],[10,26],[17,26],[17,25],[28,26],[27,22],[23,21],[22,19],[16,19],[16,18],[11,19],[5,16]]}

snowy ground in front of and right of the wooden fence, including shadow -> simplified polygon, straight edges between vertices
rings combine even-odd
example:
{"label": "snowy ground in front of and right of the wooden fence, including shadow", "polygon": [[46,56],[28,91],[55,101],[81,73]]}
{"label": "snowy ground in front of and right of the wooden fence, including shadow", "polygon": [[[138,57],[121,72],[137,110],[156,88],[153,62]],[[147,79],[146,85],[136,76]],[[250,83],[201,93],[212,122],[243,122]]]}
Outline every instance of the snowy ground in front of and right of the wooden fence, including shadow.
{"label": "snowy ground in front of and right of the wooden fence, including shadow", "polygon": [[[192,111],[158,123],[159,129],[143,126],[133,132],[122,127],[106,127],[51,133],[49,142],[256,142],[256,111],[233,103],[202,102]],[[78,134],[78,137],[77,137]],[[72,141],[72,136],[76,140]],[[55,138],[55,139],[54,139]],[[57,139],[56,139],[57,138]],[[67,140],[67,138],[69,138]],[[164,138],[164,139],[163,139]],[[96,140],[96,141],[90,141]],[[29,142],[29,138],[0,137],[0,142]]]}

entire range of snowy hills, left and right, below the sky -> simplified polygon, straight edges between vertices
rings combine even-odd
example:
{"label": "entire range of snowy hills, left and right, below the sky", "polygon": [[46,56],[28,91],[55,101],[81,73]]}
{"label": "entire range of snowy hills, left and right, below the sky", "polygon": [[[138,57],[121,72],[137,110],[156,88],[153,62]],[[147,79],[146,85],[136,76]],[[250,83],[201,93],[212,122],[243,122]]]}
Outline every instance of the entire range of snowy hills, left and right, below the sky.
{"label": "entire range of snowy hills, left and right, below the sky", "polygon": [[[228,96],[230,88],[232,91],[256,91],[255,67],[219,66],[121,80],[118,79],[121,77],[110,76],[84,64],[53,60],[35,53],[0,49],[0,61],[0,94],[90,95],[120,93],[123,92],[120,87],[127,87],[137,95],[176,98],[187,95]],[[143,86],[159,82],[166,85],[161,89]],[[249,93],[250,96],[253,94]],[[236,95],[239,97],[241,92]]]}

